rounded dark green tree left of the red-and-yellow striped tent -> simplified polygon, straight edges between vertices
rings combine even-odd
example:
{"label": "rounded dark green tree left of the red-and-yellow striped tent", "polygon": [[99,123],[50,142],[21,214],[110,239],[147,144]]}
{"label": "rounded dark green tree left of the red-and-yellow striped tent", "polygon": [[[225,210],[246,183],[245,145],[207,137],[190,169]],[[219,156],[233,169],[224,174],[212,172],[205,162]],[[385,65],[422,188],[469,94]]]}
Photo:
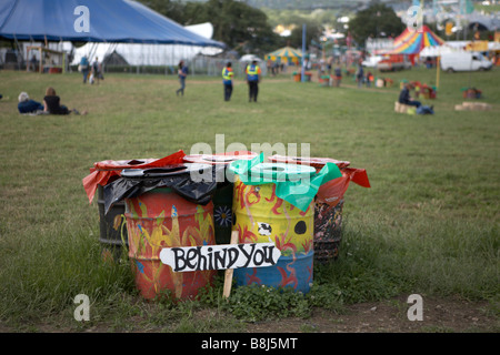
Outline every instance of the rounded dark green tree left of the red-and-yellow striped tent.
{"label": "rounded dark green tree left of the red-and-yellow striped tent", "polygon": [[349,31],[361,45],[369,37],[379,38],[380,33],[399,36],[403,30],[404,24],[396,12],[378,1],[372,1],[349,22]]}

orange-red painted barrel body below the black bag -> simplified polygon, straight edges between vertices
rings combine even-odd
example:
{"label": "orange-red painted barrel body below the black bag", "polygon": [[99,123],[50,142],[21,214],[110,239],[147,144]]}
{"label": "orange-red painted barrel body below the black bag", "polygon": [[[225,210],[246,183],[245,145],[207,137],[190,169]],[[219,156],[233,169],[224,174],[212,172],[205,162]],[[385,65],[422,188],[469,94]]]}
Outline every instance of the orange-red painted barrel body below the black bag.
{"label": "orange-red painted barrel body below the black bag", "polygon": [[163,247],[214,244],[213,204],[186,201],[168,189],[126,199],[129,257],[136,285],[146,298],[171,292],[174,298],[192,298],[212,283],[214,271],[176,273],[161,263]]}

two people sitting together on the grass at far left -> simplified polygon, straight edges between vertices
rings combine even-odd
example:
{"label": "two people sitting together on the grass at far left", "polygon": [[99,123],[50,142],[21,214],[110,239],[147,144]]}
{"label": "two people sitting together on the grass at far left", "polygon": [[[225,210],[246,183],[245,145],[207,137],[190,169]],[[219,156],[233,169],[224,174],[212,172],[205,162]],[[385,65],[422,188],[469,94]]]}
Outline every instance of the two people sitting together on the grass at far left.
{"label": "two people sitting together on the grass at far left", "polygon": [[[69,110],[68,106],[61,104],[61,99],[51,87],[46,90],[43,103],[30,99],[24,91],[19,94],[18,101],[18,111],[23,114],[80,114],[77,109]],[[87,114],[87,111],[81,114]]]}

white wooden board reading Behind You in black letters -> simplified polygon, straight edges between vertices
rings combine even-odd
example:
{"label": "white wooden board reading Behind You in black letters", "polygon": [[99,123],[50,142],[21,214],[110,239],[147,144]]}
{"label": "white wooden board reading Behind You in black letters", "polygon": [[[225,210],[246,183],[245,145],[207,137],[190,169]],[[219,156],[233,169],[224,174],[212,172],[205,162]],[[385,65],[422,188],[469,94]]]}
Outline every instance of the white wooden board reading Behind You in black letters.
{"label": "white wooden board reading Behind You in black letters", "polygon": [[161,262],[174,272],[272,266],[280,256],[273,243],[164,247],[160,252]]}

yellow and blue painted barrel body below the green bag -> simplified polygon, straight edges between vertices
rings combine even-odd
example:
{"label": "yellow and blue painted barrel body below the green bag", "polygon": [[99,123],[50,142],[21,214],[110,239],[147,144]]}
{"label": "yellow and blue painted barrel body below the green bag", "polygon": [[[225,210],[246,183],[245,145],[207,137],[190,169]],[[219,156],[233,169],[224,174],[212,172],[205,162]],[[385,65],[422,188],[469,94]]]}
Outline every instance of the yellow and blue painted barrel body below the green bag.
{"label": "yellow and blue painted barrel body below the green bag", "polygon": [[308,292],[312,282],[313,203],[301,211],[276,195],[273,183],[246,185],[237,176],[233,231],[240,243],[272,242],[281,251],[274,266],[234,270],[238,285],[252,283]]}

